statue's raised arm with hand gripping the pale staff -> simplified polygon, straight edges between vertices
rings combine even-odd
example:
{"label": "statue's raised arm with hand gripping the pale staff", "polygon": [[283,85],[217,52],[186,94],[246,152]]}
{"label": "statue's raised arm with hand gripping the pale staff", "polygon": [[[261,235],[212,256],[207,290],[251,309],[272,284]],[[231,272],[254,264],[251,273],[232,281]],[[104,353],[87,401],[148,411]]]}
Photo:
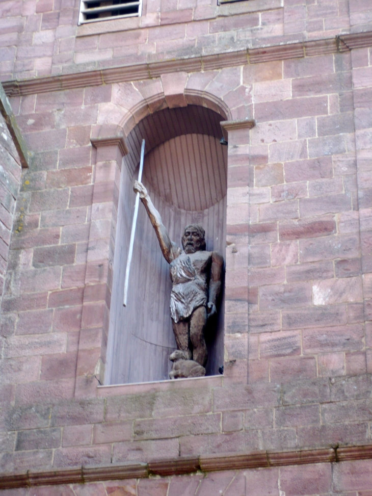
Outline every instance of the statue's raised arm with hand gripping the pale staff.
{"label": "statue's raised arm with hand gripping the pale staff", "polygon": [[147,215],[153,225],[157,239],[160,244],[164,258],[170,264],[174,258],[176,258],[180,251],[175,243],[173,243],[169,237],[168,231],[165,228],[162,218],[156,208],[154,207],[151,198],[149,197],[146,188],[143,186],[142,182],[135,181],[133,190],[135,193],[140,193],[140,198],[142,203],[145,205]]}

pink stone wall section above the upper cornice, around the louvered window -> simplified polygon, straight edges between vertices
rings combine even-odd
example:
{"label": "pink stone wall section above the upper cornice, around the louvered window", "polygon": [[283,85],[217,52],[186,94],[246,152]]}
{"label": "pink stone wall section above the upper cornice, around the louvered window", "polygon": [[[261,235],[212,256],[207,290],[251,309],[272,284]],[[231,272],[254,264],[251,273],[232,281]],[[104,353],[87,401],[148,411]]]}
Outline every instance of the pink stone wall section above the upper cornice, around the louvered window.
{"label": "pink stone wall section above the upper cornice, around the louvered window", "polygon": [[79,0],[2,2],[2,81],[367,31],[368,0],[145,0],[141,18],[77,27]]}

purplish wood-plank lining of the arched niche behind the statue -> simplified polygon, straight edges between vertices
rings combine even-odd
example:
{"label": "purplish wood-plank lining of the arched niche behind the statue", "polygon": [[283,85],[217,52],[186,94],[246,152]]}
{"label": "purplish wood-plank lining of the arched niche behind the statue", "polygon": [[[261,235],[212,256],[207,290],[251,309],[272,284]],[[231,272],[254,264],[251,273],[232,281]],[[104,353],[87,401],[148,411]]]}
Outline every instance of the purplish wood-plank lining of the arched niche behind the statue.
{"label": "purplish wood-plank lining of the arched niche behind the statue", "polygon": [[[207,250],[225,257],[227,147],[224,118],[204,107],[164,109],[145,117],[127,137],[114,256],[106,384],[168,379],[176,349],[169,313],[171,281],[152,225],[140,203],[127,306],[123,287],[140,146],[146,140],[143,182],[171,239],[180,245],[187,224],[205,229]],[[219,316],[206,330],[207,375],[223,364],[223,295]]]}

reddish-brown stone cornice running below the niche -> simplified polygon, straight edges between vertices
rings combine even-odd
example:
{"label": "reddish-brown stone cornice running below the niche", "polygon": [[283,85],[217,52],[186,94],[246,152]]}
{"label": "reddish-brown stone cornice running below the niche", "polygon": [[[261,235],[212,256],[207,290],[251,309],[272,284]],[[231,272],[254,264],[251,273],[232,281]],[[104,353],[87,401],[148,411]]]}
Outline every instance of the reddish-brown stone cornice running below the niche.
{"label": "reddish-brown stone cornice running below the niche", "polygon": [[0,475],[0,489],[15,487],[78,484],[104,480],[139,479],[153,475],[191,474],[197,471],[216,472],[264,468],[309,463],[337,463],[350,460],[372,458],[372,445],[348,446],[343,448],[323,448],[284,452],[260,451],[247,454],[200,455],[199,457],[179,457],[149,463],[128,462],[122,465],[98,467],[63,468],[55,471]]}

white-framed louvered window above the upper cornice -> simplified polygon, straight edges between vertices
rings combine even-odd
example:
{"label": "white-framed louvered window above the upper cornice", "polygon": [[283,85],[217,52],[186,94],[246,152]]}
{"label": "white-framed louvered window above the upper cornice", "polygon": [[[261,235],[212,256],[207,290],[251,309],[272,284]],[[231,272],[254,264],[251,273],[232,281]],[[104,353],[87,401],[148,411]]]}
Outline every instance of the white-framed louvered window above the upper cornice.
{"label": "white-framed louvered window above the upper cornice", "polygon": [[82,0],[79,24],[141,15],[142,0]]}

